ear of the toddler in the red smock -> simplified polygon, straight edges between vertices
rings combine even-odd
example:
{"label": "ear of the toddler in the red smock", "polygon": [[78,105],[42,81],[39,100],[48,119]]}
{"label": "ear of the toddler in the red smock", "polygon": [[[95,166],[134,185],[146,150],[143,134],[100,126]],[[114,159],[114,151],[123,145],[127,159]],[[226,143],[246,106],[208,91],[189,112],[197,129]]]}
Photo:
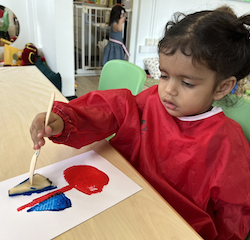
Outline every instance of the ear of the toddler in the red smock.
{"label": "ear of the toddler in the red smock", "polygon": [[220,100],[223,97],[225,97],[228,93],[230,93],[234,88],[236,82],[237,80],[236,77],[234,76],[231,76],[220,82],[214,92],[214,100]]}

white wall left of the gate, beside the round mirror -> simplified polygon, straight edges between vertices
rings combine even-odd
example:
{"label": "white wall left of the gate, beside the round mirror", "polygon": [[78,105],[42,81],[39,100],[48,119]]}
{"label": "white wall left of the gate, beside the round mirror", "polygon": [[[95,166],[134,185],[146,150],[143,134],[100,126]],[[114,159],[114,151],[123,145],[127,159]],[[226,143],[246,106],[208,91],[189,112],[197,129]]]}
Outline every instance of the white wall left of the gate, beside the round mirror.
{"label": "white wall left of the gate, beside the round mirror", "polygon": [[0,0],[20,23],[20,34],[12,44],[23,49],[32,42],[42,48],[45,60],[62,77],[62,93],[75,95],[72,0]]}

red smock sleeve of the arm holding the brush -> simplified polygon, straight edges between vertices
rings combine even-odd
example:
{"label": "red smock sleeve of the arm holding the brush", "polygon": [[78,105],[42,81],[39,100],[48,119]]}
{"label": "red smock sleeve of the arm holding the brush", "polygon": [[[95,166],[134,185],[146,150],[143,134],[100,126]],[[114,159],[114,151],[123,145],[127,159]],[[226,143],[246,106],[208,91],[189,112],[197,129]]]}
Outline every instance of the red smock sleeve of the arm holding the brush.
{"label": "red smock sleeve of the arm holding the brush", "polygon": [[117,133],[124,121],[139,123],[135,97],[127,89],[93,91],[69,103],[55,101],[52,112],[64,121],[58,144],[81,148]]}

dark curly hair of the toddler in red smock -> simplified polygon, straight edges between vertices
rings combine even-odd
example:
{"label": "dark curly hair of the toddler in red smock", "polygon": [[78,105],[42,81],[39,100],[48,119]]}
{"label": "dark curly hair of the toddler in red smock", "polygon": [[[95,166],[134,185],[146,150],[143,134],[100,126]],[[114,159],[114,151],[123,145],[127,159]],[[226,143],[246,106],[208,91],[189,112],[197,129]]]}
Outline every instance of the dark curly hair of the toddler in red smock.
{"label": "dark curly hair of the toddler in red smock", "polygon": [[189,15],[176,13],[165,27],[159,53],[180,50],[193,64],[204,64],[220,82],[231,76],[237,81],[250,72],[250,15],[237,17],[228,6]]}

